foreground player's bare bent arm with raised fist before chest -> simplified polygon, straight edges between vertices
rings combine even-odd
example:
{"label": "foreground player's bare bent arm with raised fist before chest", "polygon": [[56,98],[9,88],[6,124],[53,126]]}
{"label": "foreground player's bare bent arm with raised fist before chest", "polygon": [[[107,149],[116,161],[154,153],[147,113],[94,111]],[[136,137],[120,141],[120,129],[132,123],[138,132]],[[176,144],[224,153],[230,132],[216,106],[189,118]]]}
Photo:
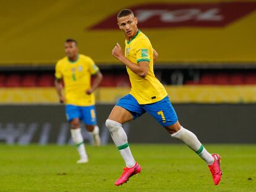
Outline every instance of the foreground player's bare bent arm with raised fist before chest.
{"label": "foreground player's bare bent arm with raised fist before chest", "polygon": [[119,43],[116,44],[114,49],[112,50],[112,54],[116,59],[121,61],[123,64],[125,64],[127,67],[129,67],[130,70],[132,70],[134,73],[139,75],[140,77],[145,78],[148,74],[148,68],[149,68],[149,62],[147,61],[140,61],[138,64],[134,64],[133,62],[130,62],[122,52],[122,48],[119,45]]}

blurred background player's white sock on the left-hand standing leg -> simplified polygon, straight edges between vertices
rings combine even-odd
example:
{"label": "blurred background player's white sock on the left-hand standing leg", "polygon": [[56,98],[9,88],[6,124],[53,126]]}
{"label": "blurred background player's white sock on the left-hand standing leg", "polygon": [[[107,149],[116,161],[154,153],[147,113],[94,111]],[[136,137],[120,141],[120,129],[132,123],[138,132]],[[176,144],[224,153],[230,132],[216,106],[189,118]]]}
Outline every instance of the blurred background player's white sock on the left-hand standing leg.
{"label": "blurred background player's white sock on the left-hand standing leg", "polygon": [[77,147],[77,151],[79,152],[79,155],[81,158],[88,158],[86,151],[85,151],[85,144],[83,143],[83,136],[81,133],[80,128],[71,129],[71,136],[72,140],[75,143],[75,146]]}

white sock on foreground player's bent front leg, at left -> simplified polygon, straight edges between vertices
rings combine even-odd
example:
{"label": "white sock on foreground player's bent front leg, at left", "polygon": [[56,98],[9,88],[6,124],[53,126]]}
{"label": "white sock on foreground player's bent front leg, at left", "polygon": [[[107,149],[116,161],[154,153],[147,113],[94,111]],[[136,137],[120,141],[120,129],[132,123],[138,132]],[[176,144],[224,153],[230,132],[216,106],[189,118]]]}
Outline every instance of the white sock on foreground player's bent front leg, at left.
{"label": "white sock on foreground player's bent front leg, at left", "polygon": [[108,127],[110,135],[119,149],[122,158],[126,162],[126,167],[134,167],[135,160],[132,156],[132,152],[130,152],[129,144],[127,141],[127,135],[124,129],[122,128],[122,124],[115,122],[114,120],[106,120],[106,127]]}

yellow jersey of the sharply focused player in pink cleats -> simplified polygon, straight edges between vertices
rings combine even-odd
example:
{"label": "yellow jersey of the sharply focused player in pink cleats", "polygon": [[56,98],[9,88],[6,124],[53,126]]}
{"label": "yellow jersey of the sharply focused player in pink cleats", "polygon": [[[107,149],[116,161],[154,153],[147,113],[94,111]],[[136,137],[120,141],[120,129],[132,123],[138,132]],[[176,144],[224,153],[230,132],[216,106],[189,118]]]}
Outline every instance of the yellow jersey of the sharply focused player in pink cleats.
{"label": "yellow jersey of the sharply focused player in pink cleats", "polygon": [[150,40],[140,30],[132,40],[126,40],[125,56],[135,64],[140,61],[150,62],[148,75],[145,78],[140,77],[132,72],[129,67],[126,67],[132,85],[130,94],[134,96],[139,104],[150,104],[165,98],[167,92],[155,77],[153,71],[153,48]]}

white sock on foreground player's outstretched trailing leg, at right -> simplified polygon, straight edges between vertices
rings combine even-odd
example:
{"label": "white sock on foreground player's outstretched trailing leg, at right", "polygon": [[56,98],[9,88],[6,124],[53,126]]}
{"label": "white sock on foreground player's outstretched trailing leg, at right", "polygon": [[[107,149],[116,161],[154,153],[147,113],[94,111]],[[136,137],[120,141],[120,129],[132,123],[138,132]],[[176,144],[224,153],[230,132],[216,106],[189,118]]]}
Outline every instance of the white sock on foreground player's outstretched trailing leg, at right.
{"label": "white sock on foreground player's outstretched trailing leg, at right", "polygon": [[187,146],[193,149],[198,154],[198,156],[202,157],[202,159],[207,162],[208,165],[213,164],[213,156],[211,156],[211,154],[203,147],[202,143],[200,143],[194,133],[184,127],[181,127],[179,131],[171,134],[171,136],[186,143]]}

